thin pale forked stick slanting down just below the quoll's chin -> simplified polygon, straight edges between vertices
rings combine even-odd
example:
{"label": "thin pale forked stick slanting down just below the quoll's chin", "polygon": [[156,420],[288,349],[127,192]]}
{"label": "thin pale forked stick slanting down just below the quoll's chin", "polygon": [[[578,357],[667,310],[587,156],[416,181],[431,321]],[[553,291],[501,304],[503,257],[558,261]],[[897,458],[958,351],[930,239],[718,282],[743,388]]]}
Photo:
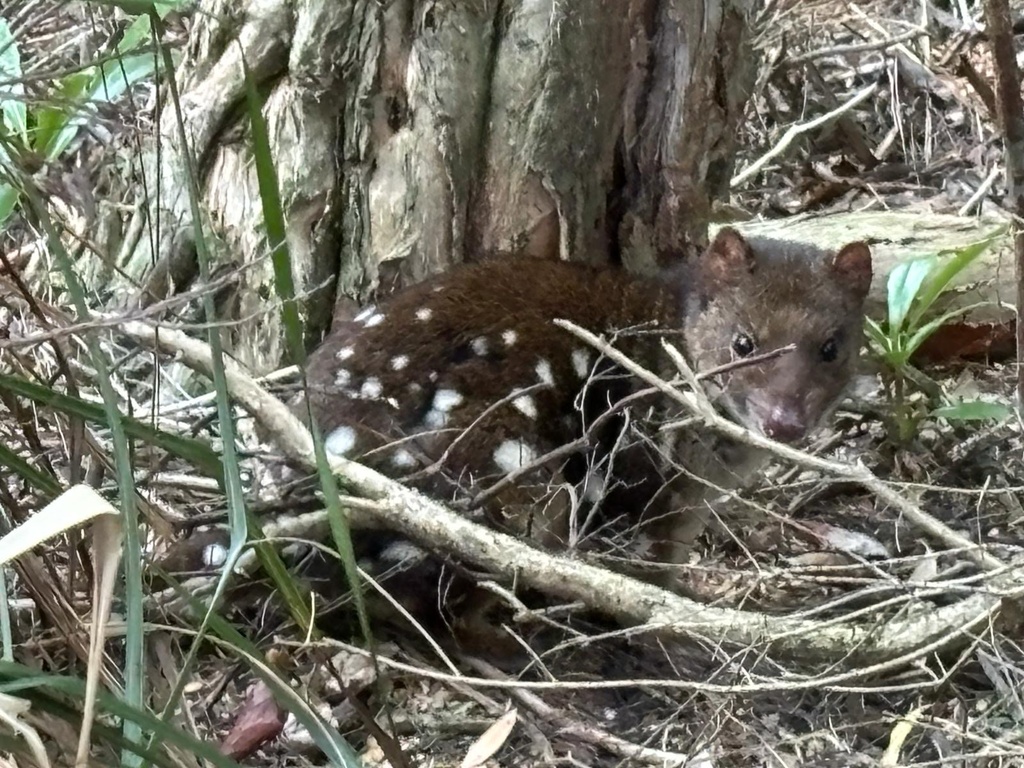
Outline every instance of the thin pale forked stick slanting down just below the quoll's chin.
{"label": "thin pale forked stick slanting down just below the quoll's chin", "polygon": [[625,354],[616,350],[614,347],[609,346],[589,331],[586,331],[579,326],[573,326],[571,323],[566,321],[556,319],[555,324],[561,326],[570,333],[575,334],[588,344],[597,347],[603,354],[606,354],[637,378],[657,387],[677,402],[680,402],[688,408],[694,414],[703,419],[705,423],[719,434],[723,434],[726,437],[736,440],[737,442],[744,442],[748,445],[753,445],[763,451],[770,451],[786,461],[807,467],[808,469],[826,472],[830,475],[856,482],[866,490],[872,493],[879,499],[882,499],[884,502],[898,509],[902,515],[904,515],[918,527],[925,530],[929,536],[944,542],[950,547],[965,550],[965,554],[979,567],[990,571],[1002,570],[1007,567],[1006,563],[996,557],[992,557],[978,544],[952,530],[945,523],[935,519],[918,505],[912,504],[897,494],[889,487],[888,484],[876,477],[874,474],[862,464],[842,464],[840,462],[822,459],[817,456],[811,456],[803,451],[799,451],[791,447],[790,445],[776,442],[768,437],[757,434],[745,427],[741,427],[736,422],[719,415],[715,406],[710,399],[708,399],[708,396],[697,384],[696,376],[690,369],[689,364],[683,355],[680,354],[679,350],[671,344],[663,342],[663,346],[669,353],[669,356],[672,357],[673,362],[675,362],[679,368],[683,378],[690,384],[691,391],[689,392],[682,392],[671,386],[659,376],[652,374],[642,366],[638,366]]}

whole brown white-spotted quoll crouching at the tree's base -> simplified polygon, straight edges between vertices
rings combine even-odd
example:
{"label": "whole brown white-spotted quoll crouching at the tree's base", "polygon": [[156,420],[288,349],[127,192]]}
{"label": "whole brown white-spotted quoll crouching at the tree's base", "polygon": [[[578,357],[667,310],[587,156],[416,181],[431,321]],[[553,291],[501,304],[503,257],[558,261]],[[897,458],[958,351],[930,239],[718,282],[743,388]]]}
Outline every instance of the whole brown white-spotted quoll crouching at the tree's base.
{"label": "whole brown white-spotted quoll crouching at the tree's base", "polygon": [[678,411],[639,396],[639,380],[553,321],[662,374],[673,371],[663,338],[698,372],[792,345],[707,385],[738,423],[797,442],[852,380],[870,280],[863,243],[836,252],[732,228],[696,263],[656,278],[484,260],[337,319],[309,359],[309,404],[328,452],[492,525],[565,548],[607,520],[653,520],[636,528],[648,556],[678,561],[709,500],[766,457],[699,425],[659,436]]}

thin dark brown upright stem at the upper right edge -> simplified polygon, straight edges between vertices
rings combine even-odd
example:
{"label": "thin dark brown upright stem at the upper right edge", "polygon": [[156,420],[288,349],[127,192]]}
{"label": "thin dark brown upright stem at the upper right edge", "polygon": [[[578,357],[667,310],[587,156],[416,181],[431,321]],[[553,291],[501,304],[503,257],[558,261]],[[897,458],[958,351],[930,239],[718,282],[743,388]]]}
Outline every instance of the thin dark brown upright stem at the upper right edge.
{"label": "thin dark brown upright stem at the upper right edge", "polygon": [[1007,201],[1014,214],[1017,265],[1017,416],[1024,419],[1024,104],[1014,46],[1014,27],[1007,0],[985,0],[985,24],[995,66],[995,103],[1007,152]]}

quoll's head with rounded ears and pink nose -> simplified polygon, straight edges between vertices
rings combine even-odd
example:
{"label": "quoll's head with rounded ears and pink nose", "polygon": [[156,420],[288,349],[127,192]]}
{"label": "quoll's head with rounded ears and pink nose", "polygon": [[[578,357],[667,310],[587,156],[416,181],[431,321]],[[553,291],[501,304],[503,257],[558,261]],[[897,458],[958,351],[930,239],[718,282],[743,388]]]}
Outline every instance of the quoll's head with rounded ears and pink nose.
{"label": "quoll's head with rounded ears and pink nose", "polygon": [[724,228],[700,257],[687,348],[696,368],[708,371],[793,345],[710,385],[739,423],[800,441],[853,379],[870,284],[864,243],[827,251]]}

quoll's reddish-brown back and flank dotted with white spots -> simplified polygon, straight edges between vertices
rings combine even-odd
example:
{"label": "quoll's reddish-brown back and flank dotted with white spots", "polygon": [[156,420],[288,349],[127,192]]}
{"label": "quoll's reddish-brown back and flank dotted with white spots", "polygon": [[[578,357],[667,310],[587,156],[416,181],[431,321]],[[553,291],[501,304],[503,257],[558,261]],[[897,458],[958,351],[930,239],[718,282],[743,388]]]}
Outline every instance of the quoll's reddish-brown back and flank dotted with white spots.
{"label": "quoll's reddish-brown back and flank dotted with white spots", "polygon": [[[545,503],[555,509],[544,518],[565,522],[569,497],[553,485],[583,483],[582,493],[595,496],[602,478],[588,474],[594,456],[539,460],[580,438],[633,386],[552,321],[632,334],[631,351],[649,357],[656,341],[637,332],[678,328],[679,310],[664,285],[620,270],[484,261],[336,324],[310,357],[308,396],[329,452],[444,501],[468,500],[519,473],[483,510],[526,534]],[[613,427],[598,426],[593,446]],[[543,521],[542,530],[542,538],[553,532]]]}

